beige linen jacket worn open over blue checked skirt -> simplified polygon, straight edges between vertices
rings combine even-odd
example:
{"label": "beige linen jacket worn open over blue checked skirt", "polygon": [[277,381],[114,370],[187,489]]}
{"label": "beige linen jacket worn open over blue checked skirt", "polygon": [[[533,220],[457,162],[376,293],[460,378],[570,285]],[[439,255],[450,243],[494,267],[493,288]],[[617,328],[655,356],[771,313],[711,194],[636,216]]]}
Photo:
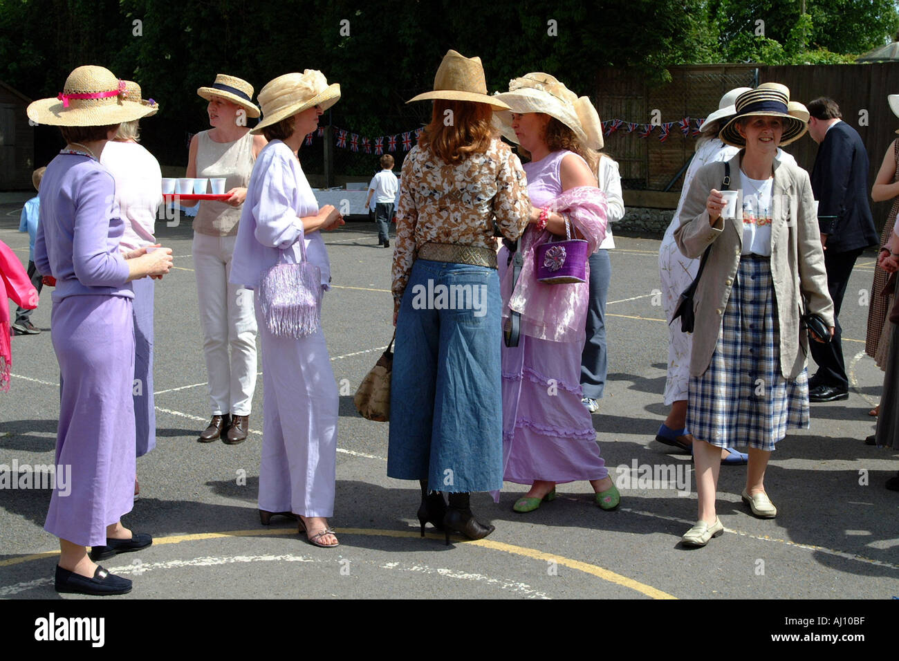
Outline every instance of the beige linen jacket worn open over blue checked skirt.
{"label": "beige linen jacket worn open over blue checked skirt", "polygon": [[[740,185],[740,159],[730,161],[731,190]],[[743,252],[743,191],[738,192],[736,218],[708,223],[708,193],[721,190],[725,164],[710,163],[699,169],[683,203],[681,227],[674,239],[681,253],[695,259],[711,244],[708,263],[699,279],[693,300],[696,325],[690,356],[690,375],[699,377],[708,370],[715,353],[727,300],[734,286]],[[796,165],[774,161],[771,188],[771,277],[777,298],[780,327],[780,372],[796,379],[806,365],[808,336],[800,332],[799,317],[807,311],[820,315],[833,326],[833,303],[827,291],[824,254],[818,222],[814,217],[812,184],[808,173]]]}

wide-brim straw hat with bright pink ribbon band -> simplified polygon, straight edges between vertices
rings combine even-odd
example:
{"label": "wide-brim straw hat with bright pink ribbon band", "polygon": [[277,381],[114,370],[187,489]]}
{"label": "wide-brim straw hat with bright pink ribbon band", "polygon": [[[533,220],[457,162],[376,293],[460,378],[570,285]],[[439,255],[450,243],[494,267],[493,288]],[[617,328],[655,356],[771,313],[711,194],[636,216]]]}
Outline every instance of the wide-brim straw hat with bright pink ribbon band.
{"label": "wide-brim straw hat with bright pink ribbon band", "polygon": [[111,126],[153,112],[125,98],[125,81],[105,67],[77,67],[56,98],[29,104],[28,118],[50,126]]}

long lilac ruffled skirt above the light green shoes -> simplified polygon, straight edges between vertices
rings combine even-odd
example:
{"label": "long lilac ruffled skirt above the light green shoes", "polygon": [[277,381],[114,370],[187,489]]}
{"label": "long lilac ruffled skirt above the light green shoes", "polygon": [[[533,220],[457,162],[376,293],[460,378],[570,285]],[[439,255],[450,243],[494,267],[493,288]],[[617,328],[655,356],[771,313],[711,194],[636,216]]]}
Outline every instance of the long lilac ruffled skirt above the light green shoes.
{"label": "long lilac ruffled skirt above the light green shoes", "polygon": [[527,335],[503,346],[503,479],[530,485],[609,474],[581,404],[582,351],[583,342]]}

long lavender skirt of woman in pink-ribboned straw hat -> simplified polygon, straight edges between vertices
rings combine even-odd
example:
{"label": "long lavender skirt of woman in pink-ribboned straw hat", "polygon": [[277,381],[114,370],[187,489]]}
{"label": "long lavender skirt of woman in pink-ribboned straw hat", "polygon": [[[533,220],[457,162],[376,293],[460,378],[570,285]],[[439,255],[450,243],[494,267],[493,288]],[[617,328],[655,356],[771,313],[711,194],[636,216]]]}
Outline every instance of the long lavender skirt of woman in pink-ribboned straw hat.
{"label": "long lavender skirt of woman in pink-ribboned straw hat", "polygon": [[53,303],[50,325],[60,374],[57,471],[70,478],[54,489],[44,530],[99,546],[106,526],[134,505],[131,299],[69,296]]}

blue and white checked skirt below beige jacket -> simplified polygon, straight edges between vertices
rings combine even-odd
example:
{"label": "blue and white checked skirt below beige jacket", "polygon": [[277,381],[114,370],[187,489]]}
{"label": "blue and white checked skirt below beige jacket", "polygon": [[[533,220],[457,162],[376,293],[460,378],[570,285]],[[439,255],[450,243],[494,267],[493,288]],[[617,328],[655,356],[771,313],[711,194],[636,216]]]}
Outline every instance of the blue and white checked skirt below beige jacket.
{"label": "blue and white checked skirt below beige jacket", "polygon": [[687,428],[718,447],[773,451],[788,429],[808,427],[808,374],[780,373],[780,328],[770,260],[743,255],[712,362],[690,377]]}

